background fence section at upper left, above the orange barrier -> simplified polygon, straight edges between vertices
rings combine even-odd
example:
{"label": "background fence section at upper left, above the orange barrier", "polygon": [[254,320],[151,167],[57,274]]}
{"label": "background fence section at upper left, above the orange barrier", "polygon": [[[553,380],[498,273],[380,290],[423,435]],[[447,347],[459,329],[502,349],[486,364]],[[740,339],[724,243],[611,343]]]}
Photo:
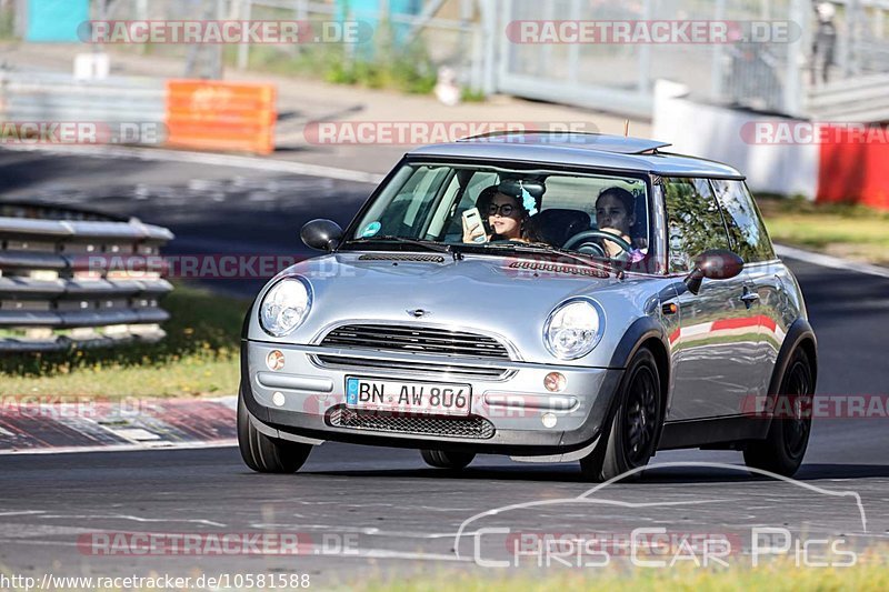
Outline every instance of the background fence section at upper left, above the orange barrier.
{"label": "background fence section at upper left, above the orange barrier", "polygon": [[[400,47],[422,48],[436,64],[446,64],[460,76],[466,87],[482,90],[483,77],[492,71],[493,46],[483,38],[480,3],[486,0],[429,0],[416,2],[420,10],[398,12],[380,8],[366,8],[367,2],[334,2],[318,0],[93,0],[92,17],[108,20],[297,20],[361,21],[374,31],[374,40],[360,47],[338,43],[298,43],[290,46],[240,44],[222,46],[152,46],[136,47],[130,51],[182,59],[187,78],[219,78],[224,64],[246,69],[269,63],[283,71],[296,71],[299,59],[306,71],[317,71],[318,64],[336,54],[344,60],[372,56],[371,47],[394,43]],[[493,18],[493,14],[490,16]],[[118,50],[126,48],[116,48]],[[398,48],[397,48],[398,49]],[[290,63],[286,63],[290,61]],[[493,92],[492,83],[488,90]]]}

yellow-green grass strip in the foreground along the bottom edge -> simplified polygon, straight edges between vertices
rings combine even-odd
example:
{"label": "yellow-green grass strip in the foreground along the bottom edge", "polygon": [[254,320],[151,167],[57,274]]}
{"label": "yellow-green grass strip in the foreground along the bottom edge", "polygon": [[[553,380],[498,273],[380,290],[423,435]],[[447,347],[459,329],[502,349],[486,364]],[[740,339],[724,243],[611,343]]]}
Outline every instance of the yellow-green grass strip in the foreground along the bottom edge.
{"label": "yellow-green grass strip in the foreground along the bottom edge", "polygon": [[479,576],[478,572],[424,573],[402,579],[377,579],[358,585],[361,592],[565,592],[567,590],[608,590],[615,592],[643,592],[682,590],[689,592],[746,592],[845,590],[889,590],[889,566],[885,560],[870,558],[852,568],[797,568],[790,561],[777,560],[758,568],[731,566],[711,570],[682,565],[676,569],[588,568],[561,570],[558,568],[512,572],[499,575],[493,571]]}

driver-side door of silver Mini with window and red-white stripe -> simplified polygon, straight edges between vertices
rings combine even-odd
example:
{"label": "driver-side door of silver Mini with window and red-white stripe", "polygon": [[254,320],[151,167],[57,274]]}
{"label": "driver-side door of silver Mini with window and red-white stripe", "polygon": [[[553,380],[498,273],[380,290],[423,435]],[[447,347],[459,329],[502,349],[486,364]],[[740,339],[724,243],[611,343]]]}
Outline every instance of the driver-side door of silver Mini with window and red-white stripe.
{"label": "driver-side door of silver Mini with window and red-white stripe", "polygon": [[[708,249],[730,249],[722,211],[706,179],[663,179],[671,273],[685,275]],[[752,371],[759,348],[753,285],[747,273],[701,283],[685,292],[679,330],[670,337],[672,398],[667,420],[738,415],[745,398],[756,393]]]}

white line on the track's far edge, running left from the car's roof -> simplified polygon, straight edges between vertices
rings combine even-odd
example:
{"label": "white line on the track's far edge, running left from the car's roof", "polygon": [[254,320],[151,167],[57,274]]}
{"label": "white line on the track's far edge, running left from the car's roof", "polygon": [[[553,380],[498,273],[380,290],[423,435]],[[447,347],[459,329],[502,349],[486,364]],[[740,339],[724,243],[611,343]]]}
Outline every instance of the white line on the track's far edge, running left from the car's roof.
{"label": "white line on the track's far edge, running left from the car's roof", "polygon": [[54,154],[99,157],[99,158],[138,158],[158,162],[191,162],[211,167],[232,167],[253,171],[283,172],[306,174],[340,181],[378,184],[383,175],[372,172],[339,169],[321,164],[308,164],[289,160],[274,160],[259,157],[241,157],[236,154],[213,154],[209,152],[189,152],[187,150],[166,150],[162,148],[133,148],[122,146],[7,146],[9,150],[24,152],[50,152]]}

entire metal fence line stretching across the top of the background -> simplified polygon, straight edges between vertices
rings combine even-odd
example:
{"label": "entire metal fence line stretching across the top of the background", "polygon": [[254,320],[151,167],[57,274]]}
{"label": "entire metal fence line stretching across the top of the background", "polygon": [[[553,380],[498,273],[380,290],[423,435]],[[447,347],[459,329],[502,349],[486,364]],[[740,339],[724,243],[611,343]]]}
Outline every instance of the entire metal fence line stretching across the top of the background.
{"label": "entire metal fence line stretching across the top of the background", "polygon": [[[20,0],[23,1],[23,0]],[[417,0],[411,10],[379,0],[93,0],[97,19],[360,20],[388,43],[419,47],[433,67],[483,94],[503,92],[546,101],[650,117],[657,79],[688,86],[693,98],[807,116],[808,97],[823,86],[809,76],[813,0]],[[835,0],[832,80],[889,72],[889,0]],[[368,8],[372,7],[372,8]],[[517,20],[783,21],[791,42],[701,44],[520,44],[506,34]],[[374,43],[381,39],[374,39]],[[218,78],[223,64],[311,74],[331,60],[374,58],[367,48],[292,46],[129,46],[114,51],[176,57],[186,77]],[[398,51],[394,52],[398,54]],[[378,56],[378,54],[377,54]]]}

